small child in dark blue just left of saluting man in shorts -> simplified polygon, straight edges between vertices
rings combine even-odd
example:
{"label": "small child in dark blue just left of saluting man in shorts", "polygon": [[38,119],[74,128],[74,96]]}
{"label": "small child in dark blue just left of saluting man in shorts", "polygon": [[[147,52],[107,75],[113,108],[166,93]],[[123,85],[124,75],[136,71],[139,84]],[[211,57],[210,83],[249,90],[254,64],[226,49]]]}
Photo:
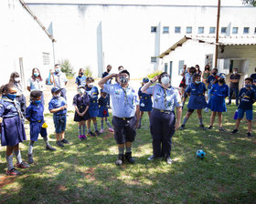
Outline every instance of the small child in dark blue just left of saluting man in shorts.
{"label": "small child in dark blue just left of saluting man in shorts", "polygon": [[101,97],[99,98],[98,103],[99,103],[99,115],[98,115],[98,117],[101,117],[101,131],[100,131],[100,133],[102,133],[104,131],[104,126],[103,126],[104,119],[105,119],[106,124],[109,127],[109,131],[113,132],[112,125],[108,121],[109,110],[108,110],[107,93],[103,92],[102,89],[101,89]]}

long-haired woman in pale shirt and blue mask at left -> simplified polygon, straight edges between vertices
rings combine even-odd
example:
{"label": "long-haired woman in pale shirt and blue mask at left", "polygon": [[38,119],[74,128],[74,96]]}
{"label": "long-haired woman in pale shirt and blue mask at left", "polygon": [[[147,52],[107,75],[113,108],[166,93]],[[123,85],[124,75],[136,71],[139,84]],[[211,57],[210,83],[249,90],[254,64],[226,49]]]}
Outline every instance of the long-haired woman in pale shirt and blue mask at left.
{"label": "long-haired woman in pale shirt and blue mask at left", "polygon": [[43,93],[43,79],[40,74],[40,71],[38,68],[33,68],[32,69],[32,76],[28,79],[27,81],[27,90],[29,92],[32,91],[41,91],[42,96],[41,96],[41,101],[42,104],[44,104],[44,93]]}

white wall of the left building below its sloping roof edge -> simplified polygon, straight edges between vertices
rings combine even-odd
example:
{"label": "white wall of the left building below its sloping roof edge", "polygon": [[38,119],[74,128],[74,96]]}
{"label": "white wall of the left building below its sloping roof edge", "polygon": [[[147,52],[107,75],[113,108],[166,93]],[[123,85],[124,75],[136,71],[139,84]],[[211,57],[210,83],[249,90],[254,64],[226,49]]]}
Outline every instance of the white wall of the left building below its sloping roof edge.
{"label": "white wall of the left building below its sloping roof edge", "polygon": [[[23,60],[23,81],[38,67],[43,78],[53,66],[52,44],[46,33],[27,13],[18,0],[0,1],[0,81],[4,85],[12,72],[20,73],[19,58]],[[49,53],[49,65],[43,64],[43,52]]]}

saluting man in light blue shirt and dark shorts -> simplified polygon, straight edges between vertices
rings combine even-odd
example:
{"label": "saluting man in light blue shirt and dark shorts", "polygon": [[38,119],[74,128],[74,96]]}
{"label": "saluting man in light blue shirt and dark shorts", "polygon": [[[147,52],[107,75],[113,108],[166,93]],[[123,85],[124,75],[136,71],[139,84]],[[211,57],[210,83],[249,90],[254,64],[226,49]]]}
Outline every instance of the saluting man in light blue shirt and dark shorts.
{"label": "saluting man in light blue shirt and dark shorts", "polygon": [[[117,77],[117,84],[107,84],[112,77]],[[129,81],[130,73],[123,70],[119,74],[105,76],[98,83],[112,98],[112,125],[119,151],[115,164],[118,166],[123,164],[124,158],[131,164],[135,162],[132,157],[132,143],[136,135],[135,128],[139,125],[140,106]]]}

